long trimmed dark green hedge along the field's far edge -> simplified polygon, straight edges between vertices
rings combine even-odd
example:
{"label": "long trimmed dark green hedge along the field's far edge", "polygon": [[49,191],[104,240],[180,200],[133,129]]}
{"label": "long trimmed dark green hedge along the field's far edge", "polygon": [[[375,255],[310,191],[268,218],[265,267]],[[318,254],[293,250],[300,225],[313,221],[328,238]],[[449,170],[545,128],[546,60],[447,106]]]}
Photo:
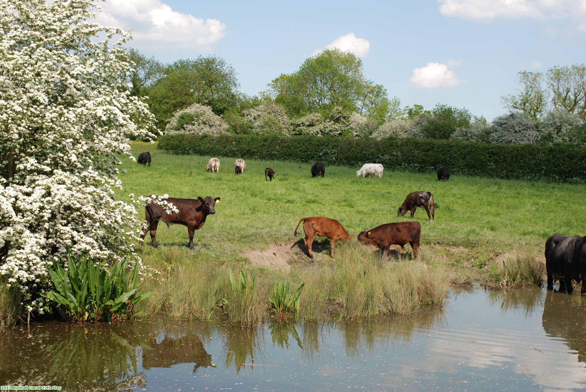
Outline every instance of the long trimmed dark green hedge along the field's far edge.
{"label": "long trimmed dark green hedge along the field's far edge", "polygon": [[172,154],[323,162],[356,169],[363,163],[376,162],[387,170],[418,173],[431,173],[435,168],[447,166],[452,175],[586,182],[586,148],[561,144],[226,134],[167,135],[159,139],[158,145]]}

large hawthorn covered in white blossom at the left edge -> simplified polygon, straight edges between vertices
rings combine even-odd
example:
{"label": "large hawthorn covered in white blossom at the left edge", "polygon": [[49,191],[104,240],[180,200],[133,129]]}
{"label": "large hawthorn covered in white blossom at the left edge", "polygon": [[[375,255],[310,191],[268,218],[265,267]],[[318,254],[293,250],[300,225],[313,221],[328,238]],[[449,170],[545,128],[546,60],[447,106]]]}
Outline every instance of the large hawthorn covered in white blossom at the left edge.
{"label": "large hawthorn covered in white blossom at the left edge", "polygon": [[151,139],[155,128],[130,96],[130,32],[88,22],[94,6],[0,0],[0,277],[29,311],[42,312],[35,293],[67,250],[134,254],[140,223],[134,205],[115,200],[117,154],[134,159],[128,137]]}

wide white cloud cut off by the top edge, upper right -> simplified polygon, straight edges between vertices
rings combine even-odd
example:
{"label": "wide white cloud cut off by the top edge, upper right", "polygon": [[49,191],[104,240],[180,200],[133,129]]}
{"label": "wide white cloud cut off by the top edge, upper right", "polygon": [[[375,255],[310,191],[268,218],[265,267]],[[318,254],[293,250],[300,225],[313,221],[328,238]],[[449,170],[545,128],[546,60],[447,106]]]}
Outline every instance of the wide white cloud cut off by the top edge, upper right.
{"label": "wide white cloud cut off by the top edge, upper right", "polygon": [[580,18],[585,0],[438,0],[444,16],[464,19]]}

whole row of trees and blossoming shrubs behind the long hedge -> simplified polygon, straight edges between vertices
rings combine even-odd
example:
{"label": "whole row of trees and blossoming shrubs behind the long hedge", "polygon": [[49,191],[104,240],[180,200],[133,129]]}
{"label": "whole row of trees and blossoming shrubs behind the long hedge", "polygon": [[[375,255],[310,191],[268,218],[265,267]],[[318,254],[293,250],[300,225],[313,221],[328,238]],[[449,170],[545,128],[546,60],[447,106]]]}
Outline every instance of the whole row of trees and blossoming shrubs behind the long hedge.
{"label": "whole row of trees and blossoming shrubs behind the long hedge", "polygon": [[136,63],[131,94],[148,96],[165,132],[586,142],[586,71],[580,65],[554,67],[546,74],[520,72],[519,91],[502,97],[510,113],[489,124],[466,108],[401,108],[398,98],[389,98],[383,86],[366,79],[362,60],[338,49],[309,57],[254,97],[241,93],[236,71],[220,57],[165,65],[136,50],[130,54]]}

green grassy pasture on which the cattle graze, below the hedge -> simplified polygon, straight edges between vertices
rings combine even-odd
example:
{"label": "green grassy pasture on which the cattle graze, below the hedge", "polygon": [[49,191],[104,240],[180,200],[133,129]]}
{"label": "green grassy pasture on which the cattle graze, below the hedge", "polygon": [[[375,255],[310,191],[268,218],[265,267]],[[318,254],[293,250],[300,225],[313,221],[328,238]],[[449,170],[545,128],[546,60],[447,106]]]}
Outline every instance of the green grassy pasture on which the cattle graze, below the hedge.
{"label": "green grassy pasture on which the cattle graze, below the hedge", "polygon": [[[302,217],[331,217],[339,220],[350,234],[357,234],[379,224],[408,220],[408,214],[397,217],[397,208],[408,193],[428,190],[436,203],[435,221],[428,221],[424,210],[418,209],[415,213],[415,220],[421,222],[421,260],[430,266],[430,273],[438,274],[438,278],[442,277],[449,285],[466,277],[488,278],[490,268],[494,268],[492,266],[503,254],[523,253],[540,260],[548,236],[556,232],[581,233],[586,216],[584,203],[568,203],[586,192],[583,185],[467,178],[458,173],[453,173],[449,182],[440,182],[434,175],[402,172],[384,172],[381,179],[362,179],[355,175],[358,168],[336,166],[326,166],[325,178],[312,178],[310,164],[251,160],[246,162],[244,174],[236,176],[233,163],[237,157],[219,157],[220,172],[209,173],[204,166],[210,156],[168,155],[156,152],[152,145],[134,145],[135,156],[142,151],[151,151],[150,168],[123,158],[121,169],[127,172],[121,175],[124,190],[118,192],[118,196],[122,199],[128,200],[131,192],[137,196],[167,193],[172,197],[222,197],[216,214],[209,216],[202,229],[196,231],[195,250],[187,248],[187,229],[179,225],[169,228],[159,225],[156,233],[159,248],[152,248],[148,237],[145,247],[141,248],[145,263],[162,272],[160,280],[147,283],[157,292],[151,297],[148,310],[154,312],[164,308],[176,316],[205,317],[222,299],[222,293],[226,294],[226,266],[237,268],[238,264],[250,264],[250,260],[243,257],[244,250],[266,248],[274,243],[290,245],[301,240],[302,230],[297,237],[293,236],[293,231]],[[272,182],[265,181],[267,167],[276,171]],[[139,212],[141,219],[143,214]],[[329,254],[328,240],[324,239],[318,248]],[[291,270],[274,272],[260,268],[261,295],[251,299],[255,303],[252,307],[259,314],[265,311],[264,291],[272,288],[274,279],[286,279],[306,283],[302,308],[306,314],[313,315],[311,318],[318,318],[321,311],[332,306],[337,311],[349,309],[349,305],[343,304],[348,293],[334,294],[335,288],[330,287],[339,280],[338,274],[342,274],[346,264],[352,266],[347,268],[356,274],[363,275],[371,264],[375,265],[378,272],[370,274],[384,271],[387,279],[394,279],[391,275],[403,270],[397,263],[382,260],[380,254],[363,248],[367,249],[358,247],[352,240],[339,246],[335,262],[326,256],[318,261],[299,257],[291,261]],[[350,259],[352,261],[346,263]],[[408,257],[403,255],[401,263],[410,265],[409,270],[417,270],[417,266],[422,265],[405,259]],[[353,272],[348,273],[352,275]],[[370,283],[383,284],[380,279],[375,280]],[[413,281],[412,284],[414,291],[403,295],[415,298],[413,292],[426,283]],[[438,295],[445,292],[444,287],[435,289]],[[359,311],[346,316],[401,312],[409,308],[383,306],[383,302],[389,300],[388,290],[388,287],[379,287],[372,292],[365,291],[364,301],[368,302],[367,296],[372,295],[380,297],[382,302],[377,302],[374,310],[367,309],[372,301],[370,305],[364,301],[352,305]],[[310,306],[311,298],[319,302],[318,311],[315,311],[316,306]],[[437,299],[435,295],[417,296],[412,305],[437,302]]]}

